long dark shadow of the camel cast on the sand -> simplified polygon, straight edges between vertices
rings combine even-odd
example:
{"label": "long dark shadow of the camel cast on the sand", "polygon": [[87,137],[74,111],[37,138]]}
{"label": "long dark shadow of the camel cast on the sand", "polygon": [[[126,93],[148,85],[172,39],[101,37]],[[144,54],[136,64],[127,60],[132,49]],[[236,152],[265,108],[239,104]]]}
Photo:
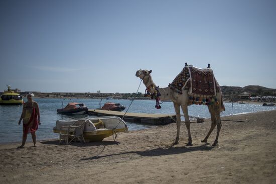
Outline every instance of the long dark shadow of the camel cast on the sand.
{"label": "long dark shadow of the camel cast on the sand", "polygon": [[[180,153],[188,153],[193,151],[210,151],[214,147],[213,146],[207,146],[209,144],[204,144],[201,146],[191,146],[191,147],[168,147],[168,148],[155,148],[151,150],[145,150],[145,151],[127,151],[122,153],[116,153],[116,154],[108,154],[99,156],[93,156],[88,158],[82,158],[80,160],[94,160],[99,159],[103,157],[109,157],[109,156],[116,156],[116,155],[124,155],[124,154],[138,154],[140,156],[162,156],[162,155],[174,155],[174,154],[180,154]],[[104,149],[104,148],[103,148]],[[102,152],[102,151],[101,151]]]}

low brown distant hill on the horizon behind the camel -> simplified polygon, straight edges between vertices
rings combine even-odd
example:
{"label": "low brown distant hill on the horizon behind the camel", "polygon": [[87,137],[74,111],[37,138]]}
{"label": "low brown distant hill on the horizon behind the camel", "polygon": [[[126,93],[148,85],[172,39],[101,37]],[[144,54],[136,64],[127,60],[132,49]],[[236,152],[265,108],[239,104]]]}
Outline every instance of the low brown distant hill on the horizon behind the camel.
{"label": "low brown distant hill on the horizon behind the camel", "polygon": [[267,88],[259,85],[247,85],[244,87],[239,86],[220,86],[222,90],[222,94],[240,94],[245,92],[250,93],[251,95],[258,95],[258,96],[275,96],[276,95],[276,89]]}

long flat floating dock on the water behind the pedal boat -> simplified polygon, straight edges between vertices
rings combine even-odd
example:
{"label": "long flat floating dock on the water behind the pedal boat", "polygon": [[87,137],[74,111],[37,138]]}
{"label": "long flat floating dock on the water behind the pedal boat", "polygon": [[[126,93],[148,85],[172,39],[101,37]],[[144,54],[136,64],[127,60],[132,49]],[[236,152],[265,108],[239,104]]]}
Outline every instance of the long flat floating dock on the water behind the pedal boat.
{"label": "long flat floating dock on the water behind the pedal boat", "polygon": [[[106,111],[91,109],[88,114],[93,116],[117,116],[122,118],[125,112]],[[148,113],[126,113],[124,118],[126,122],[151,124],[151,125],[166,125],[176,121],[175,114],[148,114]]]}

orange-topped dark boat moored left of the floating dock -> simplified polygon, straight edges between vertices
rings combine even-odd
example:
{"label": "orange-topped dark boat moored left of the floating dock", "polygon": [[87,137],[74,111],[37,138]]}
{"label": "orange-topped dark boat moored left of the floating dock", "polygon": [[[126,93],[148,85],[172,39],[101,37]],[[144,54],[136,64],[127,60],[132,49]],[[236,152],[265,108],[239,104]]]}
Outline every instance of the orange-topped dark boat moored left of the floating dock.
{"label": "orange-topped dark boat moored left of the floating dock", "polygon": [[65,108],[57,109],[58,113],[61,114],[84,114],[88,111],[88,107],[86,107],[82,103],[68,103]]}

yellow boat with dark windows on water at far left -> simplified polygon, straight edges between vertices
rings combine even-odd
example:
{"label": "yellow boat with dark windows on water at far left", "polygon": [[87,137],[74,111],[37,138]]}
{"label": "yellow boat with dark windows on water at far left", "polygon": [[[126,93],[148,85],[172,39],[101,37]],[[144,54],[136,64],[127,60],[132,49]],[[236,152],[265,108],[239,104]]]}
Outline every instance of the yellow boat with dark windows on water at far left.
{"label": "yellow boat with dark windows on water at far left", "polygon": [[23,97],[11,90],[11,85],[7,85],[8,90],[0,97],[0,105],[22,105]]}

